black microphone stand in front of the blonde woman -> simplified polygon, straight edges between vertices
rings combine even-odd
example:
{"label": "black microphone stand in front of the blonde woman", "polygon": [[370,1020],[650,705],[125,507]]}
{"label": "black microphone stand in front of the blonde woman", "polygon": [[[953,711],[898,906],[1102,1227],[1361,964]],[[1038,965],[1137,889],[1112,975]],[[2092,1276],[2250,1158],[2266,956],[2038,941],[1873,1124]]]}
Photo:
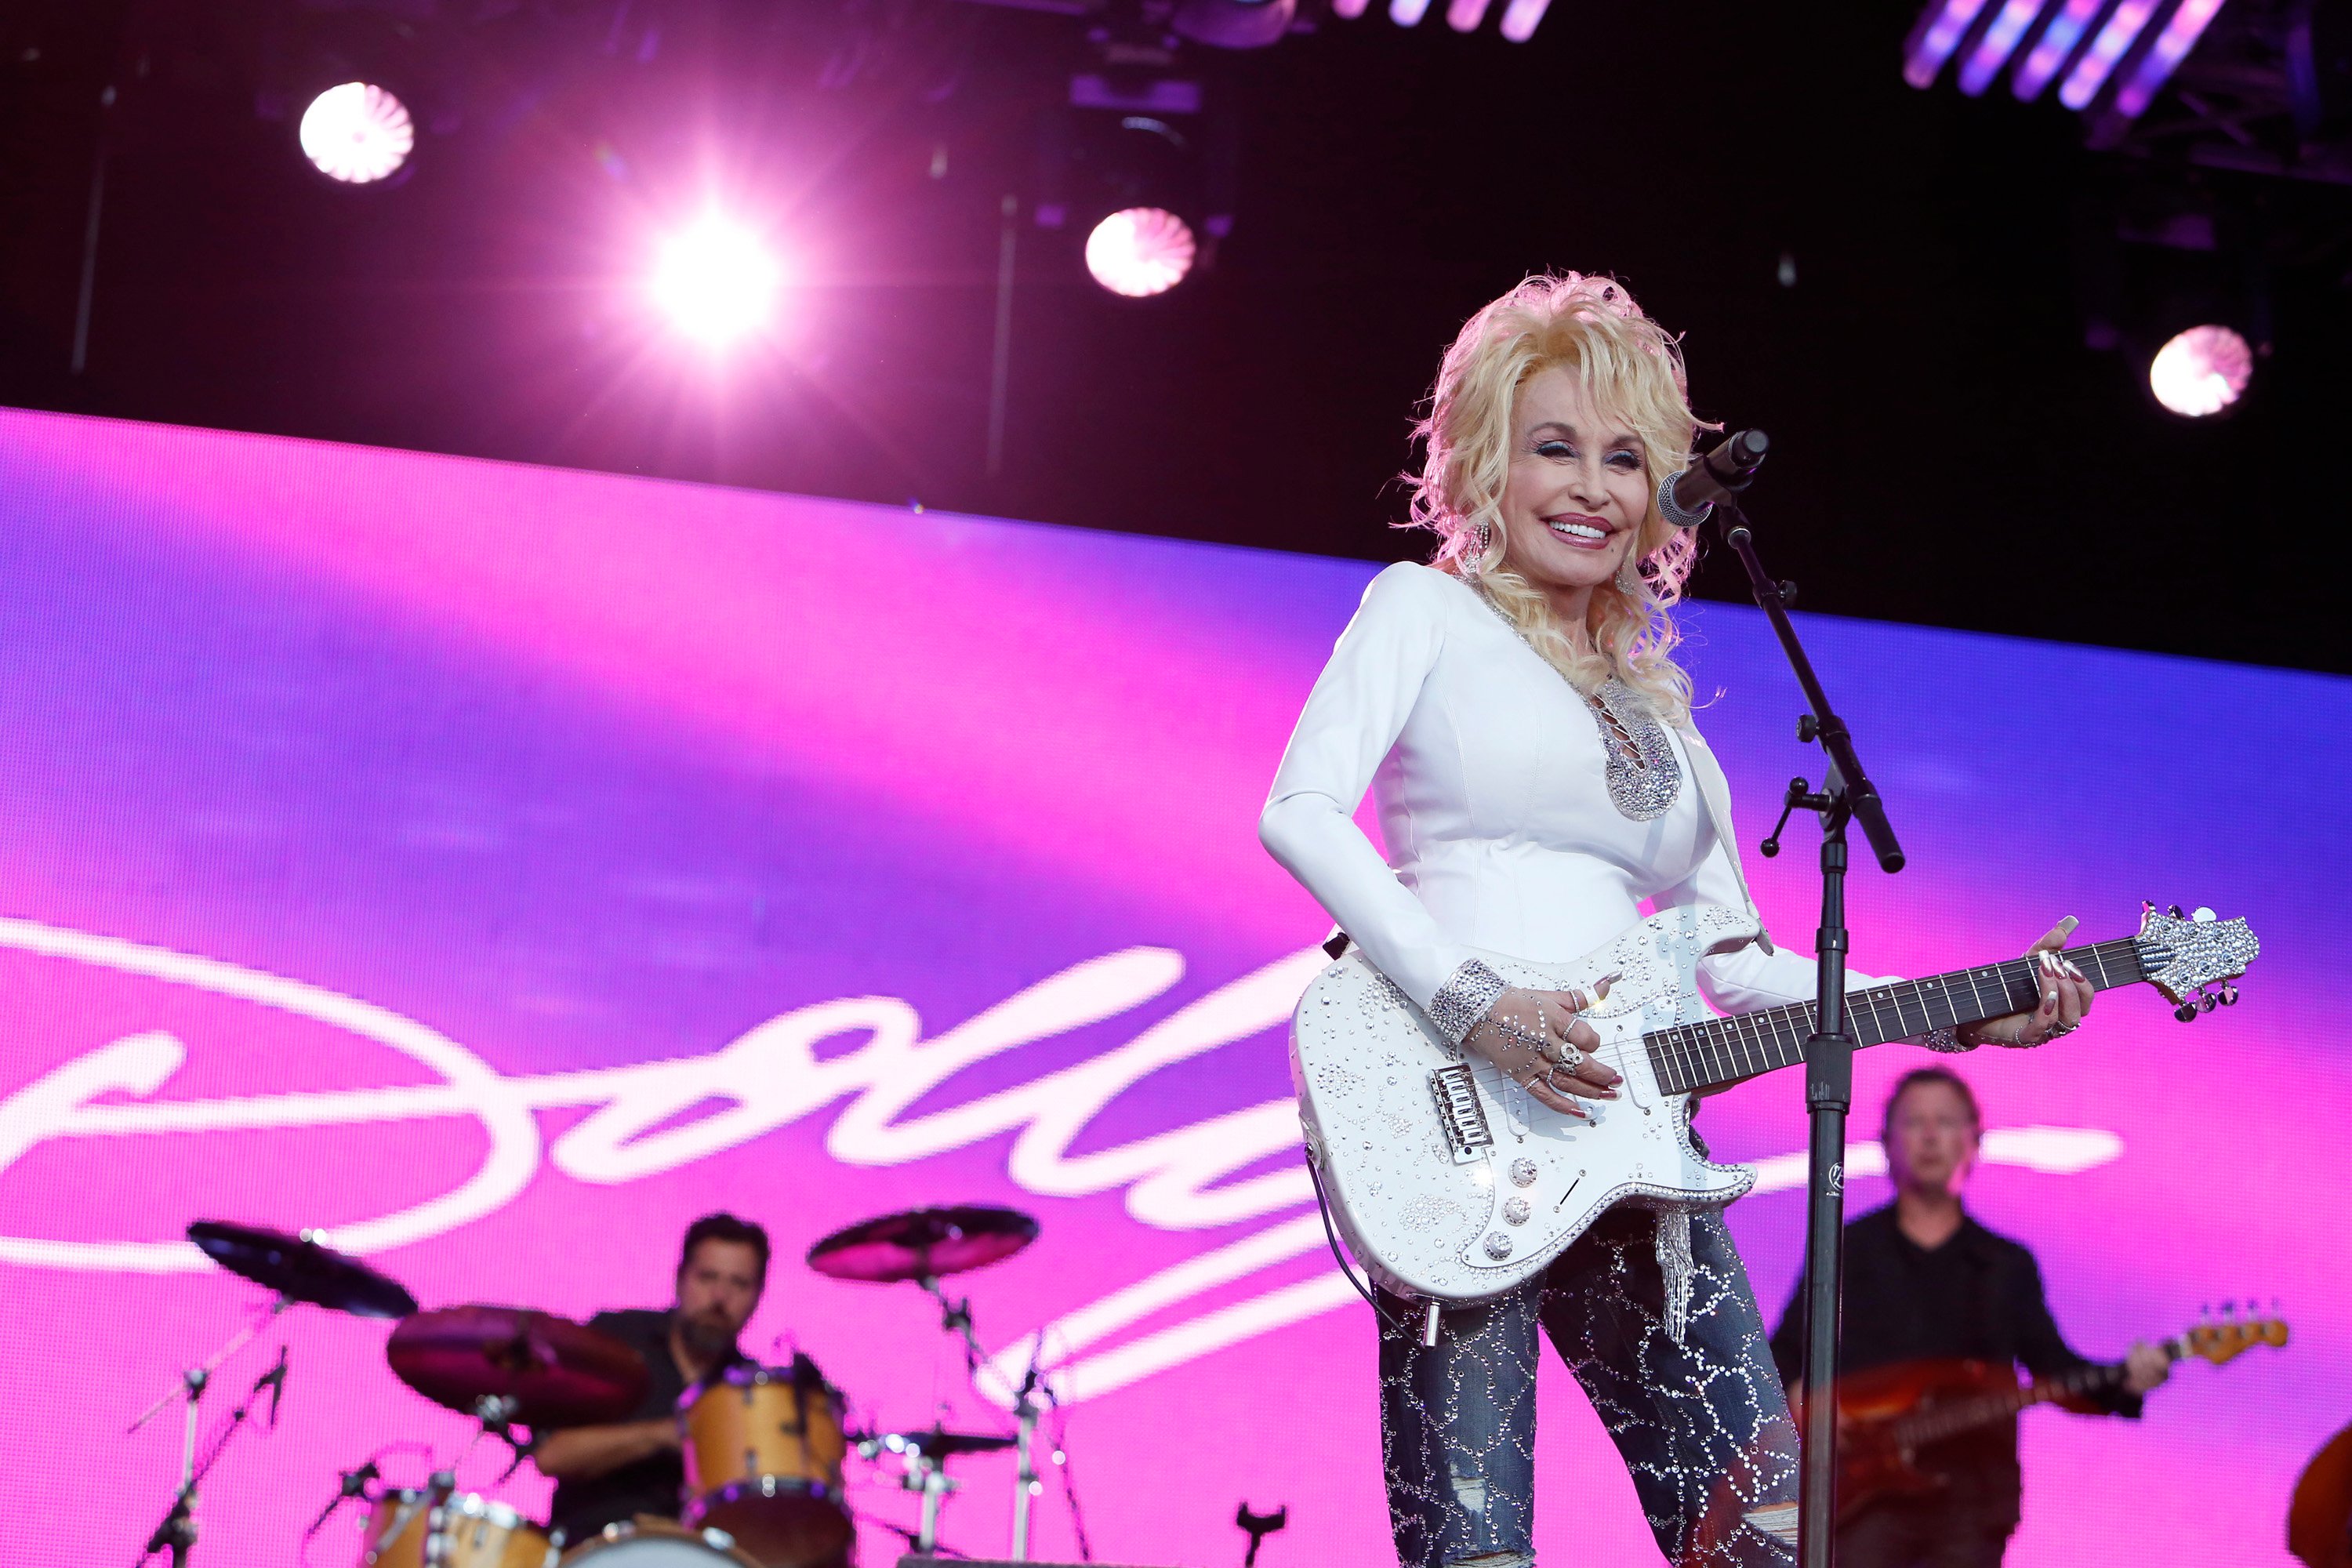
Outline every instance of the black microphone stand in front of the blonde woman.
{"label": "black microphone stand in front of the blonde woman", "polygon": [[[1738,440],[1738,437],[1733,437]],[[1722,480],[1722,475],[1717,475]],[[1724,482],[1729,491],[1748,489],[1748,475]],[[1820,818],[1820,929],[1813,933],[1818,976],[1813,990],[1813,1034],[1804,1041],[1804,1105],[1811,1112],[1804,1215],[1804,1446],[1797,1460],[1797,1561],[1802,1568],[1830,1568],[1837,1559],[1837,1321],[1839,1288],[1846,1265],[1846,1112],[1853,1107],[1853,1034],[1846,1030],[1846,825],[1860,823],[1863,837],[1886,872],[1903,870],[1903,846],[1886,825],[1886,806],[1870,773],[1853,755],[1853,731],[1830,708],[1813,675],[1788,607],[1795,583],[1764,571],[1755,534],[1738,501],[1724,510],[1724,543],[1748,569],[1773,637],[1788,656],[1811,712],[1797,719],[1797,741],[1820,743],[1830,769],[1813,790],[1792,778],[1780,809],[1780,823],[1764,839],[1766,856],[1780,853],[1780,830],[1790,813],[1804,809]]]}

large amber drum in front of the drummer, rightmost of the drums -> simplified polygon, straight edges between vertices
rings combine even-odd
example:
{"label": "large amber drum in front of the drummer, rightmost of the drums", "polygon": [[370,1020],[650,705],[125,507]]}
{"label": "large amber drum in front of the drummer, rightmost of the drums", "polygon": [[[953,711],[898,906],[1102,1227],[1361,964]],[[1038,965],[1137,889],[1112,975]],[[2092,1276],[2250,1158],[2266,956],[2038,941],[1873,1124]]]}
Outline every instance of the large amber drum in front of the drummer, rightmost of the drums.
{"label": "large amber drum in front of the drummer, rightmost of the drums", "polygon": [[842,1408],[816,1378],[731,1366],[677,1401],[687,1523],[720,1528],[767,1568],[849,1561]]}

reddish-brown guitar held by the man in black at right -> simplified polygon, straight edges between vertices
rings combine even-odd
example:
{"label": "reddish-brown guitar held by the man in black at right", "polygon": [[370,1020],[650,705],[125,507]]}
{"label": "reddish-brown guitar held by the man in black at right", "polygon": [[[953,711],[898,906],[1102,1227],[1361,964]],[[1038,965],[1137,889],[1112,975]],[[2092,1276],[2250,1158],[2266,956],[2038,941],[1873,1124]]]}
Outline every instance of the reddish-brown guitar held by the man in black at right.
{"label": "reddish-brown guitar held by the man in black at right", "polygon": [[[2199,1324],[2164,1340],[2164,1359],[2197,1356],[2220,1366],[2256,1345],[2286,1345],[2279,1319]],[[1919,1450],[1978,1432],[2042,1403],[2093,1408],[2086,1394],[2124,1382],[2122,1366],[2084,1366],[2063,1378],[2018,1387],[2006,1366],[1985,1361],[1903,1361],[1837,1380],[1837,1523],[1893,1500],[1947,1486],[1919,1467]]]}

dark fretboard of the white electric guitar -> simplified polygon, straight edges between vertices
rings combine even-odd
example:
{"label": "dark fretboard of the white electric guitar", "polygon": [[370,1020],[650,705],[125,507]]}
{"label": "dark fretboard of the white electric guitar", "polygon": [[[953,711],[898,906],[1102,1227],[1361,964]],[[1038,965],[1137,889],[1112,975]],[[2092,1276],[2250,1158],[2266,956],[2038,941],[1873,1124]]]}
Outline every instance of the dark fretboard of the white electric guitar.
{"label": "dark fretboard of the white electric guitar", "polygon": [[[2067,947],[2065,954],[2096,990],[2138,985],[2140,947],[2133,938]],[[2002,1018],[2037,1006],[2042,978],[2032,959],[1955,969],[1924,980],[1898,980],[1865,992],[1846,992],[1846,1032],[1856,1046],[1910,1039],[1980,1018]],[[1651,1072],[1665,1093],[1693,1093],[1752,1079],[1804,1060],[1813,1037],[1813,1004],[1790,1004],[1731,1018],[1708,1018],[1644,1034]]]}

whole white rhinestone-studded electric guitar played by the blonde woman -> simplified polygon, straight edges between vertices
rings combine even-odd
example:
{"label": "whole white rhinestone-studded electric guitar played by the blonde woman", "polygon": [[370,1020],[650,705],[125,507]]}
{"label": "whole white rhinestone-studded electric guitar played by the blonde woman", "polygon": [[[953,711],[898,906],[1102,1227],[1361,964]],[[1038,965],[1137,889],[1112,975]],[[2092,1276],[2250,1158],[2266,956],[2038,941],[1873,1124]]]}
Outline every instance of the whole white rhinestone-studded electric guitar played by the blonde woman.
{"label": "whole white rhinestone-studded electric guitar played by the blonde woman", "polygon": [[[1590,1121],[1449,1041],[1362,950],[1324,969],[1298,999],[1291,1081],[1308,1159],[1357,1262],[1399,1295],[1472,1302],[1526,1281],[1613,1204],[1700,1211],[1748,1192],[1752,1166],[1691,1147],[1691,1095],[1802,1063],[1813,1032],[1811,1004],[1733,1018],[1700,1004],[1698,959],[1752,936],[1740,912],[1696,905],[1651,914],[1573,964],[1477,954],[1524,987],[1621,976],[1585,1013],[1602,1037],[1595,1056],[1625,1077],[1616,1100],[1581,1100]],[[2065,957],[2100,990],[2154,985],[2187,1020],[2237,1001],[2227,983],[2256,952],[2244,919],[2150,905],[2138,936]],[[2034,966],[2016,959],[1851,992],[1846,1020],[1858,1046],[1875,1046],[2037,1001]]]}

